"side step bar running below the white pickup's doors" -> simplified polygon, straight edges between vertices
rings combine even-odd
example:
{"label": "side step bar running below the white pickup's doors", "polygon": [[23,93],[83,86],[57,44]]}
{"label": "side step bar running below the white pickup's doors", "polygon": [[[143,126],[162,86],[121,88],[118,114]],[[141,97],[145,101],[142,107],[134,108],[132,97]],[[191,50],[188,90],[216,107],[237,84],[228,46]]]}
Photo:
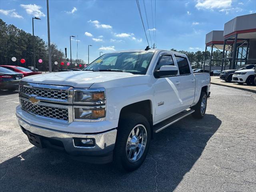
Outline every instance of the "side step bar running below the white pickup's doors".
{"label": "side step bar running below the white pickup's doors", "polygon": [[166,127],[170,126],[171,124],[174,124],[175,122],[181,120],[182,118],[184,118],[194,112],[195,112],[195,110],[193,110],[193,109],[184,110],[184,111],[154,125],[153,131],[154,131],[154,133],[158,133],[158,132],[162,131],[163,129],[165,129]]}

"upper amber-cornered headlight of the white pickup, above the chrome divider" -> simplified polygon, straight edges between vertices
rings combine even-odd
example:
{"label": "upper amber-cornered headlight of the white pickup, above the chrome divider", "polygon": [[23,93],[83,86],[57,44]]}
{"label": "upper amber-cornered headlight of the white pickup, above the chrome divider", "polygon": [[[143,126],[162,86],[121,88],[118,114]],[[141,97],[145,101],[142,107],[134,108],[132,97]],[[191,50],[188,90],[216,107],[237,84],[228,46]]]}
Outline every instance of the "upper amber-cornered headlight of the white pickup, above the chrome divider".
{"label": "upper amber-cornered headlight of the white pickup, above the chrome divider", "polygon": [[105,92],[102,89],[99,90],[75,90],[74,102],[99,102],[105,100]]}

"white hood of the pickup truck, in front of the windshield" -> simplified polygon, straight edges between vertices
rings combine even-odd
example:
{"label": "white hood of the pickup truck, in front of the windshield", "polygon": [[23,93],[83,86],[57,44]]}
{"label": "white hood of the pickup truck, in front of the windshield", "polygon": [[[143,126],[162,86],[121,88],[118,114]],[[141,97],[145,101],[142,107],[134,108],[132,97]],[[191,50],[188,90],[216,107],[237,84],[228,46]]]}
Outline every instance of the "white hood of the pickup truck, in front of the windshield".
{"label": "white hood of the pickup truck, in front of the windshield", "polygon": [[66,71],[32,75],[22,78],[22,81],[39,84],[72,86],[74,88],[90,88],[90,86],[96,82],[104,82],[129,76],[136,75],[126,72]]}

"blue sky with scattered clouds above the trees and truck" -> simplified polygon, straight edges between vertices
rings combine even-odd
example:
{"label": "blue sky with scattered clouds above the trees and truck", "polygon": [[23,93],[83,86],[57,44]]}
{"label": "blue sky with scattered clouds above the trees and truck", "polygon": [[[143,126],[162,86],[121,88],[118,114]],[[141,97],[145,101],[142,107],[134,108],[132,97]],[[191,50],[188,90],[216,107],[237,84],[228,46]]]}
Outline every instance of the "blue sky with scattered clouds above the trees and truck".
{"label": "blue sky with scattered clouds above the trees and truck", "polygon": [[[154,0],[153,12],[154,12]],[[148,24],[154,43],[151,0],[145,0]],[[143,1],[140,8],[146,32]],[[114,50],[144,49],[147,45],[135,0],[49,0],[51,42],[70,57],[69,36],[78,35],[78,58],[90,62]],[[156,0],[156,46],[162,49],[204,50],[205,34],[223,30],[232,18],[256,12],[256,0]],[[154,13],[153,13],[154,14]],[[46,0],[0,0],[0,18],[47,40]],[[155,21],[154,21],[155,24]],[[148,35],[149,38],[149,35]],[[150,41],[150,40],[149,40]],[[150,42],[151,45],[151,42]],[[76,58],[76,38],[72,58]]]}

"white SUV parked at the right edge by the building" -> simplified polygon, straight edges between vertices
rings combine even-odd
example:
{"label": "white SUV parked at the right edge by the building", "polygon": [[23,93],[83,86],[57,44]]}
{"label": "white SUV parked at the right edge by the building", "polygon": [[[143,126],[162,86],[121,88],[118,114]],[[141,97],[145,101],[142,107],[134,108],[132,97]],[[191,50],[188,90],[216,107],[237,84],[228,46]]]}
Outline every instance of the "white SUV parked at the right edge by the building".
{"label": "white SUV parked at the right edge by the building", "polygon": [[254,84],[254,69],[244,69],[234,72],[232,77],[233,82],[238,84],[255,85]]}

